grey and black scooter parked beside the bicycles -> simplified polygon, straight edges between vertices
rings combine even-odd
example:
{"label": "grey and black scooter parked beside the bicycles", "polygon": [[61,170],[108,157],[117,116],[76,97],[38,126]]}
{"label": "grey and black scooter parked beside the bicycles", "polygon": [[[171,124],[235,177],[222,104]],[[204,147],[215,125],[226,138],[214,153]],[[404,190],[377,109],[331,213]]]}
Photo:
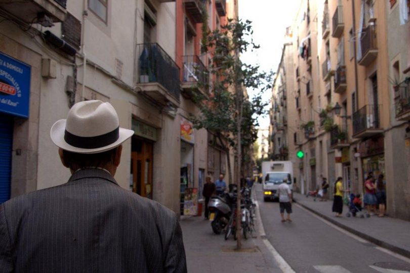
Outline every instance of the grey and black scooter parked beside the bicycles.
{"label": "grey and black scooter parked beside the bicycles", "polygon": [[229,222],[232,204],[235,202],[234,193],[224,193],[222,196],[213,196],[208,203],[212,230],[216,234],[221,234],[222,230]]}

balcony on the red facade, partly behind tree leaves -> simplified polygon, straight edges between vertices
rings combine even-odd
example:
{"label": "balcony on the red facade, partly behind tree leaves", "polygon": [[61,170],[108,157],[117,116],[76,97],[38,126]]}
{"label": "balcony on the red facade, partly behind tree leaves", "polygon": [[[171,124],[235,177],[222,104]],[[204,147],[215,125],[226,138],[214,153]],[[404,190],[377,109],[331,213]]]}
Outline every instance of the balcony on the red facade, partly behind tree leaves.
{"label": "balcony on the red facade, partly behind tree leaves", "polygon": [[209,72],[197,55],[183,56],[182,95],[191,98],[195,92],[209,95]]}

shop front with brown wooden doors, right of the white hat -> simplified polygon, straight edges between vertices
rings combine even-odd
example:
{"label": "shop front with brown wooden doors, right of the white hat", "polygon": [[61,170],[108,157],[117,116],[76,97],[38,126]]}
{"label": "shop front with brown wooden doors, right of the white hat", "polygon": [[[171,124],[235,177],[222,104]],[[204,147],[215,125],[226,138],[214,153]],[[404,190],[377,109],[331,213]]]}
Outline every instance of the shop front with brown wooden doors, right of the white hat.
{"label": "shop front with brown wooden doors, right of the white hat", "polygon": [[152,199],[153,146],[157,141],[157,129],[133,119],[132,130],[135,133],[131,139],[130,189]]}

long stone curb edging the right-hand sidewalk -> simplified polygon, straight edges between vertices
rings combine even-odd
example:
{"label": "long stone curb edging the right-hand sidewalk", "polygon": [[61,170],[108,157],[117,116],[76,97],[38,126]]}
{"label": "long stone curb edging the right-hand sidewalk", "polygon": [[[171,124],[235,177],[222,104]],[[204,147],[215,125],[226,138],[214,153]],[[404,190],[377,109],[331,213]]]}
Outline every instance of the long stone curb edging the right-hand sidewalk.
{"label": "long stone curb edging the right-hand sidewalk", "polygon": [[[298,200],[295,200],[295,202],[298,203]],[[329,221],[329,222],[331,222],[332,224],[335,224],[335,225],[337,225],[337,226],[339,226],[339,227],[341,227],[341,228],[343,228],[343,229],[349,231],[350,233],[353,233],[353,234],[356,235],[356,236],[359,236],[359,237],[361,237],[361,238],[363,238],[363,239],[365,239],[365,240],[367,240],[367,241],[369,241],[369,242],[372,242],[372,243],[375,244],[375,245],[378,245],[378,246],[380,246],[380,247],[383,247],[383,248],[385,248],[385,249],[388,249],[388,250],[390,250],[390,251],[393,251],[393,252],[395,252],[395,253],[397,253],[397,254],[400,254],[400,255],[402,255],[402,256],[404,256],[404,257],[410,258],[410,251],[408,251],[408,250],[406,250],[406,249],[403,249],[403,248],[394,246],[394,245],[392,245],[392,244],[386,243],[386,242],[381,241],[381,240],[379,240],[379,239],[377,239],[377,238],[374,238],[374,237],[372,237],[372,236],[369,236],[369,235],[367,235],[366,233],[363,233],[363,232],[360,232],[360,231],[358,231],[358,230],[356,230],[356,229],[353,229],[353,228],[351,228],[351,227],[349,227],[349,226],[347,226],[347,225],[344,225],[344,224],[342,224],[342,223],[336,221],[335,219],[332,219],[332,218],[329,217],[329,216],[326,216],[326,215],[324,215],[324,214],[322,214],[322,213],[320,213],[320,212],[317,212],[317,211],[313,210],[312,208],[310,208],[310,207],[308,207],[308,206],[306,206],[306,205],[303,205],[302,203],[298,203],[298,205],[300,205],[300,206],[302,206],[303,208],[307,209],[308,211],[310,211],[310,212],[312,212],[312,213],[314,213],[314,214],[320,216],[321,218],[325,219],[326,221]]]}

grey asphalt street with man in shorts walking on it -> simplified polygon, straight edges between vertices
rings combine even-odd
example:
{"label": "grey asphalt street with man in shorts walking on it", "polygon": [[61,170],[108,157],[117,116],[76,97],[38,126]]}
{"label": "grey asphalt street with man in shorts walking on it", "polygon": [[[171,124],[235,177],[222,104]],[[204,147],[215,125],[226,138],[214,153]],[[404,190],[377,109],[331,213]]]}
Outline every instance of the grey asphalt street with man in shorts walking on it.
{"label": "grey asphalt street with man in shorts walking on it", "polygon": [[[378,266],[387,263],[402,265],[395,269],[410,268],[403,260],[340,231],[297,204],[293,204],[293,222],[280,222],[279,204],[263,201],[260,184],[255,185],[255,190],[266,238],[296,272],[405,272]],[[332,202],[326,203],[331,210]]]}

